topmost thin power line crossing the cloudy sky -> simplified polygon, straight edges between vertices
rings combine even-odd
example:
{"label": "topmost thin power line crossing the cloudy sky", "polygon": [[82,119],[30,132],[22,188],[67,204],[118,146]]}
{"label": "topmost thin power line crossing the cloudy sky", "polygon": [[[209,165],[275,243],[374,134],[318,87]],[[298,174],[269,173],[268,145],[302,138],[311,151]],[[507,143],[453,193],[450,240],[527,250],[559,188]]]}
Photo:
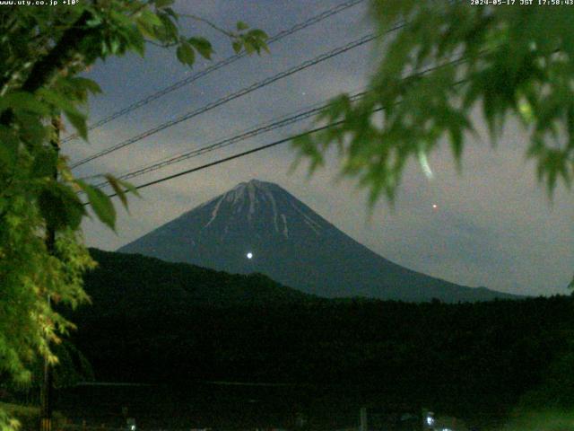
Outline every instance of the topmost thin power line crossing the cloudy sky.
{"label": "topmost thin power line crossing the cloudy sky", "polygon": [[[323,20],[326,20],[326,18],[333,16],[336,13],[341,13],[341,12],[351,8],[355,4],[362,3],[363,1],[364,0],[350,0],[350,1],[347,1],[347,2],[344,2],[341,4],[336,4],[334,7],[327,9],[326,11],[324,11],[322,13],[318,13],[317,15],[310,17],[308,20],[305,20],[304,22],[299,22],[299,23],[295,24],[290,29],[279,31],[278,33],[274,34],[274,36],[272,36],[268,40],[266,40],[266,43],[267,43],[267,45],[271,45],[278,40],[282,40],[282,39],[286,38],[287,36],[291,36],[291,34],[294,34],[298,31],[304,30],[304,29],[306,29],[312,25],[315,25],[317,22],[321,22]],[[141,107],[147,105],[148,103],[151,103],[152,101],[160,99],[161,97],[163,97],[166,94],[169,94],[170,92],[175,92],[179,88],[181,88],[187,84],[191,84],[191,83],[195,82],[196,80],[203,78],[204,76],[209,75],[218,69],[221,69],[224,66],[229,66],[231,63],[234,63],[235,61],[239,60],[239,58],[243,58],[246,56],[247,56],[246,52],[241,52],[241,53],[236,54],[234,56],[224,58],[221,61],[214,63],[212,66],[204,68],[204,70],[201,70],[200,72],[197,72],[194,75],[188,76],[187,78],[184,78],[184,79],[182,79],[182,80],[180,80],[174,84],[171,84],[165,88],[162,88],[161,90],[159,90],[157,92],[153,92],[152,94],[144,97],[143,99],[140,99],[139,101],[135,101],[131,105],[126,106],[126,108],[123,108],[121,110],[117,110],[116,112],[109,114],[108,117],[100,119],[99,121],[91,124],[88,127],[88,130],[93,130],[94,128],[100,128],[104,124],[107,124],[114,119],[118,119],[120,117],[123,117],[124,115],[128,114],[129,112],[131,112],[133,110],[137,110],[138,108],[141,108]],[[74,133],[73,135],[66,136],[65,139],[62,140],[62,142],[65,143],[65,142],[71,141],[73,139],[76,139],[77,137],[79,137],[79,135],[77,133]]]}

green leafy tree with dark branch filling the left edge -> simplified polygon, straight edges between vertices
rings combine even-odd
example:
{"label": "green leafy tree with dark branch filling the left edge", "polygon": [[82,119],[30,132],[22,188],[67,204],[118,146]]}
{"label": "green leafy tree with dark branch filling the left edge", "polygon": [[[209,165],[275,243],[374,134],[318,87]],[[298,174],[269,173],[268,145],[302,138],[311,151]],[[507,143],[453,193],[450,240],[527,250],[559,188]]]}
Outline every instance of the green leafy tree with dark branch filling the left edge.
{"label": "green leafy tree with dark branch filling the left edge", "polygon": [[[73,326],[48,298],[72,306],[87,301],[83,271],[94,262],[78,231],[83,196],[101,222],[115,224],[109,198],[74,178],[58,152],[61,119],[86,139],[83,106],[100,92],[78,74],[98,59],[143,55],[147,42],[176,48],[188,66],[213,54],[196,29],[179,31],[172,0],[59,3],[0,5],[0,375],[19,382],[30,379],[35,356],[57,361],[49,343]],[[243,22],[223,32],[236,51],[266,49],[265,32]],[[126,205],[130,186],[107,180]],[[11,425],[0,410],[0,429]]]}

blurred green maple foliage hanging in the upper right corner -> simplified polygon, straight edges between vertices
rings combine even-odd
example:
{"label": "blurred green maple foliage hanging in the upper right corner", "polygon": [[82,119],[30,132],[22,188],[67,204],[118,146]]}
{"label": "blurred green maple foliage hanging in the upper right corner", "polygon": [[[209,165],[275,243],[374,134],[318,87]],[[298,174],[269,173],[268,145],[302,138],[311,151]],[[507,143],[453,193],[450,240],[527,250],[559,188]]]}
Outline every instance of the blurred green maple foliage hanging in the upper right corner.
{"label": "blurred green maple foliage hanging in the upper right corner", "polygon": [[[392,198],[411,158],[427,172],[427,155],[448,142],[460,162],[477,124],[485,121],[495,140],[516,118],[539,179],[551,191],[559,181],[570,186],[574,5],[473,3],[371,0],[382,34],[377,71],[360,101],[341,95],[321,119],[341,123],[295,143],[311,168],[335,146],[342,174],[372,201]],[[391,31],[397,22],[404,26]]]}

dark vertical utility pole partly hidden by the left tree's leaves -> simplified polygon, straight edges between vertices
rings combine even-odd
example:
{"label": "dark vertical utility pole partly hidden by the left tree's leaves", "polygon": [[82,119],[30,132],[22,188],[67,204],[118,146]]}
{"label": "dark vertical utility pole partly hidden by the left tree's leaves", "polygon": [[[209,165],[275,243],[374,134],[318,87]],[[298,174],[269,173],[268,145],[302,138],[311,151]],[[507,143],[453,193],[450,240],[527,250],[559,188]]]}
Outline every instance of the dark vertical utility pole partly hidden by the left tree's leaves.
{"label": "dark vertical utility pole partly hidden by the left tree's leaves", "polygon": [[[60,153],[60,116],[52,119],[52,127],[54,128],[54,136],[50,140],[50,145],[56,152],[56,160]],[[57,181],[57,163],[54,165],[53,179]],[[46,229],[46,248],[48,253],[54,254],[56,252],[56,230],[52,226]],[[50,295],[48,294],[48,307],[51,306]],[[40,391],[40,423],[39,431],[52,430],[52,367],[48,362],[48,355],[44,356],[44,380]]]}

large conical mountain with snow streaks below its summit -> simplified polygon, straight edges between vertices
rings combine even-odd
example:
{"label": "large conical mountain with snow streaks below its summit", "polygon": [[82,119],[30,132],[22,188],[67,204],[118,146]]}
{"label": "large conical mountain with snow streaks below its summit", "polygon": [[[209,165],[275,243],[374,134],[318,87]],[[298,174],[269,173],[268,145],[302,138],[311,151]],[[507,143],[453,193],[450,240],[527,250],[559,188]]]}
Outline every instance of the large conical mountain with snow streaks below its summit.
{"label": "large conical mountain with snow streaks below its summit", "polygon": [[397,265],[354,241],[285,189],[260,180],[242,182],[118,251],[230,273],[259,272],[325,297],[412,302],[438,298],[448,303],[517,298]]}

